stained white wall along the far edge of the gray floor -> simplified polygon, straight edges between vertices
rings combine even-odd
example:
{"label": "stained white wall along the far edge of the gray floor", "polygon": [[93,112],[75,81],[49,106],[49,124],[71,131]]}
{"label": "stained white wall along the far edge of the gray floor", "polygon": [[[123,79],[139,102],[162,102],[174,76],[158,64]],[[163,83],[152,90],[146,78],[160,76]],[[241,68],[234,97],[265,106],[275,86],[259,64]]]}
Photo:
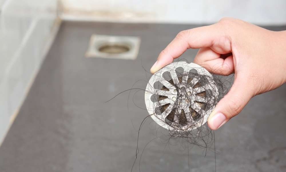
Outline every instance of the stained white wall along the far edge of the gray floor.
{"label": "stained white wall along the far edge of the gray floor", "polygon": [[286,24],[285,0],[61,0],[64,19],[214,23],[235,17],[254,24]]}

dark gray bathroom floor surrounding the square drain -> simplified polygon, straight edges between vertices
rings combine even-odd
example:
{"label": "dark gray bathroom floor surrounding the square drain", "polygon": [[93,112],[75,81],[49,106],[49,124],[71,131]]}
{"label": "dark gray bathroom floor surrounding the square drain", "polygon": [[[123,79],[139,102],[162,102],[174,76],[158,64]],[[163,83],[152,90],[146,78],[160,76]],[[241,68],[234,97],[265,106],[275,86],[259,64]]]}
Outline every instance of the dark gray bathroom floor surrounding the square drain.
{"label": "dark gray bathroom floor surrounding the square drain", "polygon": [[[21,110],[0,148],[0,171],[130,171],[137,130],[147,112],[144,92],[103,103],[138,81],[159,52],[189,25],[63,22]],[[286,30],[285,27],[268,27]],[[137,60],[85,58],[92,34],[140,36]],[[192,61],[197,50],[182,58]],[[150,76],[150,75],[148,75]],[[139,81],[135,88],[144,88]],[[134,96],[133,96],[134,95]],[[132,99],[136,103],[134,105]],[[286,171],[286,85],[254,97],[240,115],[215,132],[217,171]],[[156,137],[147,120],[139,155]],[[166,146],[145,148],[140,171],[215,171],[212,151]],[[139,160],[134,171],[139,170]]]}

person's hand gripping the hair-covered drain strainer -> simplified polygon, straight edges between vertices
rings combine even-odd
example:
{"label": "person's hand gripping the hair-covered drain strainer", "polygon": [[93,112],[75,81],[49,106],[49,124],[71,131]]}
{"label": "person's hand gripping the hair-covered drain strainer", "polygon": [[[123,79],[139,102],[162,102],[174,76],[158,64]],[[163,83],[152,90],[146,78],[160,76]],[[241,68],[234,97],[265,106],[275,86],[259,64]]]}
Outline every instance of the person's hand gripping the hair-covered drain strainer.
{"label": "person's hand gripping the hair-covered drain strainer", "polygon": [[173,62],[189,48],[200,48],[194,63],[208,71],[219,75],[235,73],[229,93],[208,118],[212,130],[239,114],[255,95],[286,82],[285,31],[274,32],[232,18],[184,30],[159,54],[151,73]]}

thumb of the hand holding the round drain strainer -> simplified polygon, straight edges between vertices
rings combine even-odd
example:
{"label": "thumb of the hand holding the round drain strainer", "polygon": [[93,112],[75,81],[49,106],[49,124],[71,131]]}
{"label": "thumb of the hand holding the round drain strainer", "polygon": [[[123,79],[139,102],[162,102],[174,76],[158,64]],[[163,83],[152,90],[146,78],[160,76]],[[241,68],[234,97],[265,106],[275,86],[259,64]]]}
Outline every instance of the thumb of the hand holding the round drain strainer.
{"label": "thumb of the hand holding the round drain strainer", "polygon": [[239,114],[252,97],[253,93],[247,88],[245,78],[236,77],[229,93],[219,101],[208,117],[209,128],[217,130]]}

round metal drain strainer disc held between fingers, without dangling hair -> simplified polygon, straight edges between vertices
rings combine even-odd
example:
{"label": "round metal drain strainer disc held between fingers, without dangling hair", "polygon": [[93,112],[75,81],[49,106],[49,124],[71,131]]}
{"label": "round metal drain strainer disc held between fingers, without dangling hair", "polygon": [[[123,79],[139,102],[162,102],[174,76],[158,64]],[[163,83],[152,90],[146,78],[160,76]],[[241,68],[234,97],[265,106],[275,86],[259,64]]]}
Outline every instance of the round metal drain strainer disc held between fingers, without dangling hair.
{"label": "round metal drain strainer disc held between fingers, without dangling hair", "polygon": [[194,63],[174,62],[152,75],[145,104],[157,124],[184,132],[207,121],[217,96],[214,78],[206,69]]}

